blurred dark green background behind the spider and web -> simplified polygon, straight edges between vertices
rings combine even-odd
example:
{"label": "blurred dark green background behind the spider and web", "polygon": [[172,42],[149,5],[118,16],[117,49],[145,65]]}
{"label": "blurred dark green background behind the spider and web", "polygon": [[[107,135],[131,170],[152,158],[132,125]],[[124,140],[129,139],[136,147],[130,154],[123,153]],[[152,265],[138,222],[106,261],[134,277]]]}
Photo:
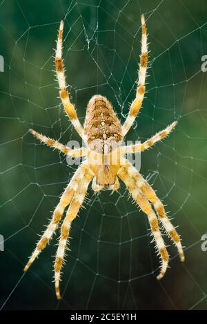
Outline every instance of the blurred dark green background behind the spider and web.
{"label": "blurred dark green background behind the spider and web", "polygon": [[[110,196],[89,190],[70,236],[63,300],[55,298],[57,238],[23,275],[38,235],[76,165],[35,141],[29,128],[67,143],[79,140],[55,81],[54,48],[65,20],[64,52],[72,101],[83,121],[93,94],[106,95],[122,122],[135,96],[140,14],[147,19],[150,68],[143,108],[128,140],[144,141],[175,119],[173,134],[141,156],[141,173],[164,201],[186,249],[181,264],[159,261],[146,216],[124,185]],[[204,0],[7,0],[0,4],[0,307],[4,310],[206,310],[207,3]]]}

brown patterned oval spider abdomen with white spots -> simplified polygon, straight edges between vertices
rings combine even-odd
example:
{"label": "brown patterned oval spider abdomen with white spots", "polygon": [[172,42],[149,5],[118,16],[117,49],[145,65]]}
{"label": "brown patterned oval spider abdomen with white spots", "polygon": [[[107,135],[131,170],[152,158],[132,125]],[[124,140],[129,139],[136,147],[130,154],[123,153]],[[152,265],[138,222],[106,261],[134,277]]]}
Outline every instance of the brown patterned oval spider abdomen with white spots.
{"label": "brown patterned oval spider abdomen with white spots", "polygon": [[105,97],[95,95],[90,99],[84,132],[90,149],[101,153],[104,152],[104,147],[110,152],[123,139],[121,123]]}

